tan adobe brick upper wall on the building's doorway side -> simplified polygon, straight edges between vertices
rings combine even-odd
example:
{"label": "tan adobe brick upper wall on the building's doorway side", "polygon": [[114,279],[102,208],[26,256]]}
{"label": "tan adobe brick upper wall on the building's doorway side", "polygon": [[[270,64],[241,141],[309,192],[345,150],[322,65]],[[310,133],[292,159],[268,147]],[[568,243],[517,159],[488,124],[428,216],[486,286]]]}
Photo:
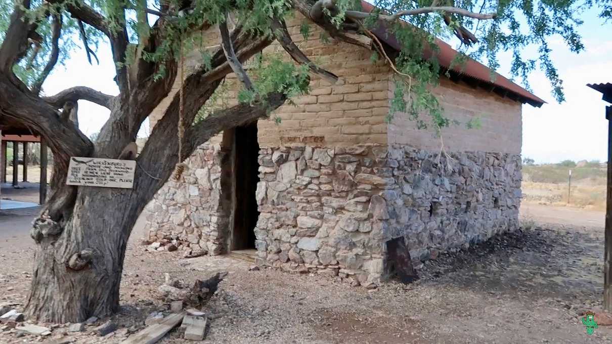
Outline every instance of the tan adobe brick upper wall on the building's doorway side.
{"label": "tan adobe brick upper wall on the building's doorway side", "polygon": [[[329,147],[357,143],[387,144],[387,124],[384,119],[389,111],[389,67],[382,61],[370,61],[371,51],[364,48],[334,39],[324,43],[319,37],[321,29],[314,24],[308,40],[304,40],[299,32],[303,20],[305,18],[298,14],[287,23],[294,42],[312,61],[338,75],[340,80],[332,85],[312,75],[310,94],[294,97],[291,100],[296,105],[288,101],[272,113],[271,119],[258,122],[259,146],[270,148],[313,140],[321,146]],[[218,44],[216,29],[209,29],[205,35],[206,47]],[[278,43],[273,43],[263,53],[278,54],[285,60],[290,59]],[[190,54],[186,59],[186,69],[197,65],[199,59],[200,53]],[[151,128],[176,94],[179,80],[180,76],[171,94],[149,116]],[[227,80],[236,85],[233,74],[228,75]],[[226,105],[236,102],[236,93],[232,88],[223,94]],[[280,124],[275,123],[276,116],[281,119]]]}

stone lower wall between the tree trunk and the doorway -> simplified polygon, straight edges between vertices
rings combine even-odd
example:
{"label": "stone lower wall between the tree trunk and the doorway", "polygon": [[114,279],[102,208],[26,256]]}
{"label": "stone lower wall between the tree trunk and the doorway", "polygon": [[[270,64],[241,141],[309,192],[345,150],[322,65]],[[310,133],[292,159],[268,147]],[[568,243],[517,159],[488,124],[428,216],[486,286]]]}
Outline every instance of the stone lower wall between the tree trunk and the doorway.
{"label": "stone lower wall between the tree trunk and the doorway", "polygon": [[196,149],[185,160],[181,180],[170,179],[147,205],[150,241],[171,242],[178,249],[211,255],[226,252],[230,214],[223,204],[229,193],[222,192],[221,174],[230,152],[215,141]]}

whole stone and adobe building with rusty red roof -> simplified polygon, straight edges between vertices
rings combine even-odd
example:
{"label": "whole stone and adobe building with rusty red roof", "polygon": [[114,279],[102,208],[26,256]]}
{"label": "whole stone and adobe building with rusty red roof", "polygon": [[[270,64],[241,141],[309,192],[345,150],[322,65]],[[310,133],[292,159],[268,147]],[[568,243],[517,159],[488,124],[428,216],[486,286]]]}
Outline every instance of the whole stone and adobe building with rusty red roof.
{"label": "whole stone and adobe building with rusty red roof", "polygon": [[[394,269],[389,250],[427,259],[518,227],[521,106],[543,100],[501,75],[491,81],[476,61],[451,69],[434,90],[446,116],[481,116],[482,127],[444,129],[449,157],[440,157],[440,138],[407,114],[386,122],[389,65],[371,62],[365,48],[321,42],[318,32],[305,40],[302,20],[288,23],[294,41],[338,83],[313,77],[309,95],[274,112],[280,124],[260,120],[203,144],[181,181],[147,206],[150,239],[210,255],[250,249],[258,264],[370,284]],[[449,67],[457,52],[438,45]]]}

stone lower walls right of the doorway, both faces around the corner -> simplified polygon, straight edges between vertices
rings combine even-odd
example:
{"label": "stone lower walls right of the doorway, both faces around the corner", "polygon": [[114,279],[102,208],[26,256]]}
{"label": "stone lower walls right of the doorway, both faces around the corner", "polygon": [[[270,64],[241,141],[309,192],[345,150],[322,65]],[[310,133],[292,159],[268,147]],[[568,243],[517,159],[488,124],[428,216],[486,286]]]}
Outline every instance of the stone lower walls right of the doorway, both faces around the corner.
{"label": "stone lower walls right of the doorway, both faces around the corner", "polygon": [[264,149],[255,230],[260,264],[378,283],[385,243],[438,252],[518,228],[520,157],[407,146]]}

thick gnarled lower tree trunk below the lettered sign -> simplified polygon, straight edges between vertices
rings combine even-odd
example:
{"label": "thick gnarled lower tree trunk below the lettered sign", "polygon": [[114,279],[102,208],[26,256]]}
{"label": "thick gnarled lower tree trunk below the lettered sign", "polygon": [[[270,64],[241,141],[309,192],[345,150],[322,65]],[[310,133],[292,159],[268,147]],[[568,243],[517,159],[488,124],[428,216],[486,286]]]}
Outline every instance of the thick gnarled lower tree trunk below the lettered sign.
{"label": "thick gnarled lower tree trunk below the lettered sign", "polygon": [[118,310],[125,247],[140,212],[129,206],[132,190],[88,189],[95,190],[79,195],[63,226],[48,219],[32,230],[38,245],[26,309],[40,321],[84,321]]}

